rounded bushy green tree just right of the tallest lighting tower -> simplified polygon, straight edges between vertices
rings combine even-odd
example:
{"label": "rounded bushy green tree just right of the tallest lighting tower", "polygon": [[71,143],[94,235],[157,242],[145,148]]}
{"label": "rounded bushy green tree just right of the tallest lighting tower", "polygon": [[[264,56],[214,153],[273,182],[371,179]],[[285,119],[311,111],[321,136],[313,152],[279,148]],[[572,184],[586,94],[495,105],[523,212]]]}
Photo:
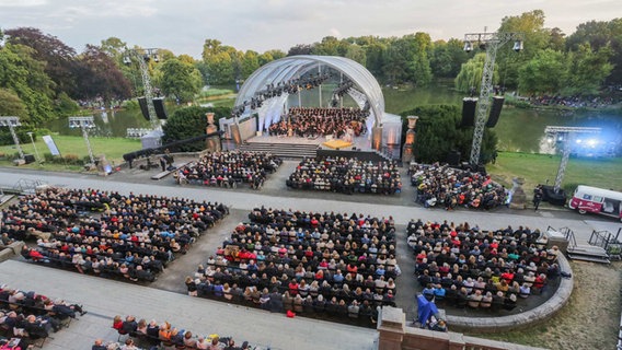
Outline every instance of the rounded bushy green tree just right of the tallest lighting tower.
{"label": "rounded bushy green tree just right of the tallest lighting tower", "polygon": [[549,48],[520,68],[518,88],[521,93],[555,94],[563,88],[566,72],[564,54]]}

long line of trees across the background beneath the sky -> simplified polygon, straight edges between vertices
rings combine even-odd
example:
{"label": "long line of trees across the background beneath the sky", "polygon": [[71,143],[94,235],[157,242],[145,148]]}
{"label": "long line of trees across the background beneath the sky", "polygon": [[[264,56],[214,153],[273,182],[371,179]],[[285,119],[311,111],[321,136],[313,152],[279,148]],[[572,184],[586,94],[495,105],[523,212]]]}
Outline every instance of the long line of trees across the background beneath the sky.
{"label": "long line of trees across the background beneath the sky", "polygon": [[[497,54],[496,84],[521,94],[594,95],[604,86],[622,85],[622,19],[590,21],[566,36],[544,27],[541,10],[502,20],[497,31],[525,34],[525,49],[511,43]],[[183,103],[205,85],[243,82],[273,60],[296,55],[331,55],[365,66],[382,84],[425,86],[435,79],[454,79],[460,91],[479,89],[485,54],[465,52],[461,38],[433,42],[427,33],[402,37],[326,36],[287,52],[239,50],[208,38],[201,57],[158,50],[147,61],[157,94]],[[477,47],[477,43],[474,46]],[[57,37],[32,27],[0,32],[0,115],[20,116],[26,124],[77,113],[91,105],[110,106],[142,94],[136,59],[141,52],[120,38],[87,45],[78,54]]]}

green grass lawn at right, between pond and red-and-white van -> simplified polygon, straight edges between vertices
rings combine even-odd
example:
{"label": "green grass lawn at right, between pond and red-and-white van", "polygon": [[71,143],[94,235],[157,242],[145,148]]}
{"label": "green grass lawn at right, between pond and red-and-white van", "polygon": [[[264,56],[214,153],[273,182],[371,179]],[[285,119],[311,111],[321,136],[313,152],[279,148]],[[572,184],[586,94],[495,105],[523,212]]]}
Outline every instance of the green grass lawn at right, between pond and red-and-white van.
{"label": "green grass lawn at right, between pond and red-and-white van", "polygon": [[[500,152],[496,164],[486,165],[493,179],[506,187],[511,187],[514,177],[525,178],[522,188],[526,192],[538,184],[555,184],[561,156],[548,154]],[[572,195],[577,185],[589,185],[622,191],[621,158],[573,158],[568,160],[562,187]]]}

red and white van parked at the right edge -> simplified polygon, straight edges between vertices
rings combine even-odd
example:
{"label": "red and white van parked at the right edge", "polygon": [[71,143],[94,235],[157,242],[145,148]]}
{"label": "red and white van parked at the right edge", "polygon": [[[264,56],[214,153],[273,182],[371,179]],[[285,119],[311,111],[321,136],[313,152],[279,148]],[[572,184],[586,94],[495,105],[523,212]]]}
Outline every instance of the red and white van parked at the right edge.
{"label": "red and white van parked at the right edge", "polygon": [[568,202],[568,207],[580,214],[591,212],[622,220],[621,205],[622,192],[584,185],[577,186]]}

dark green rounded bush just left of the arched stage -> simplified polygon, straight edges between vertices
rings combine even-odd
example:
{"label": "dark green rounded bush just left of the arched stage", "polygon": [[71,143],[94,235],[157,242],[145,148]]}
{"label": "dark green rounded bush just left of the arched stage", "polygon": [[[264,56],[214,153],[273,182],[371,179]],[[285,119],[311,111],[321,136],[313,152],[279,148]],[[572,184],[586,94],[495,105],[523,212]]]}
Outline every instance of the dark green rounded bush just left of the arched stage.
{"label": "dark green rounded bush just left of the arched stage", "polygon": [[[164,136],[162,143],[171,143],[175,141],[186,140],[205,135],[207,120],[205,114],[212,112],[215,114],[214,121],[218,125],[220,118],[227,118],[231,115],[231,108],[228,107],[199,107],[191,106],[177,109],[162,126]],[[205,141],[194,142],[180,147],[182,152],[196,152],[205,149]]]}

